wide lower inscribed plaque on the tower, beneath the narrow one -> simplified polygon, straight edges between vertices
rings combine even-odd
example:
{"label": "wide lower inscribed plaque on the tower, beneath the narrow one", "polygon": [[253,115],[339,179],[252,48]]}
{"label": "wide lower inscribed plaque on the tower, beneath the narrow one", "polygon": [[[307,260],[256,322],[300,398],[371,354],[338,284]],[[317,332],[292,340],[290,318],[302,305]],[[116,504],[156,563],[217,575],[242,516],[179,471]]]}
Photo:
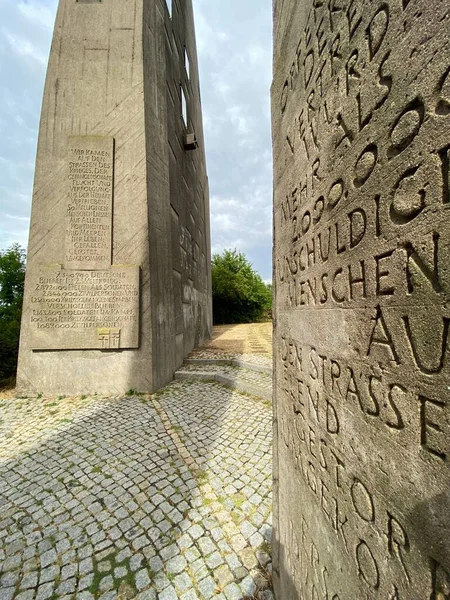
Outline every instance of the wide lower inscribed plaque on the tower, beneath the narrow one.
{"label": "wide lower inscribed plaque on the tower, beneath the narrow one", "polygon": [[33,350],[139,347],[139,267],[42,268],[32,280]]}

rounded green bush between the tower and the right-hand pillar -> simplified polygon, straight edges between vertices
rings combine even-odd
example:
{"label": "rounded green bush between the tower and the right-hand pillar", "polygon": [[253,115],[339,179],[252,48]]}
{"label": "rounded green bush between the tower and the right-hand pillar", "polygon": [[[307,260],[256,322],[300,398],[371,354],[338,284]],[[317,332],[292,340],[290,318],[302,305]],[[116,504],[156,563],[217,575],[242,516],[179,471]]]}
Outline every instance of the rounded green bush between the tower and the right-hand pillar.
{"label": "rounded green bush between the tower and the right-hand pillar", "polygon": [[251,323],[270,318],[271,286],[253,270],[245,255],[224,250],[212,258],[214,323]]}

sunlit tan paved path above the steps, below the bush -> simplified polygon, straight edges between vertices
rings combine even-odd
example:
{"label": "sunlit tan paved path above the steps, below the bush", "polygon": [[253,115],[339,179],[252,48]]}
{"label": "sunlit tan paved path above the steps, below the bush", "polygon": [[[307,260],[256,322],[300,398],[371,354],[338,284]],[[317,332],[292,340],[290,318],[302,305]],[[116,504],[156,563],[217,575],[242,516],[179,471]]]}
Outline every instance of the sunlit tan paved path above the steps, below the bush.
{"label": "sunlit tan paved path above the steps, below the bush", "polygon": [[204,350],[272,356],[272,323],[218,325]]}

